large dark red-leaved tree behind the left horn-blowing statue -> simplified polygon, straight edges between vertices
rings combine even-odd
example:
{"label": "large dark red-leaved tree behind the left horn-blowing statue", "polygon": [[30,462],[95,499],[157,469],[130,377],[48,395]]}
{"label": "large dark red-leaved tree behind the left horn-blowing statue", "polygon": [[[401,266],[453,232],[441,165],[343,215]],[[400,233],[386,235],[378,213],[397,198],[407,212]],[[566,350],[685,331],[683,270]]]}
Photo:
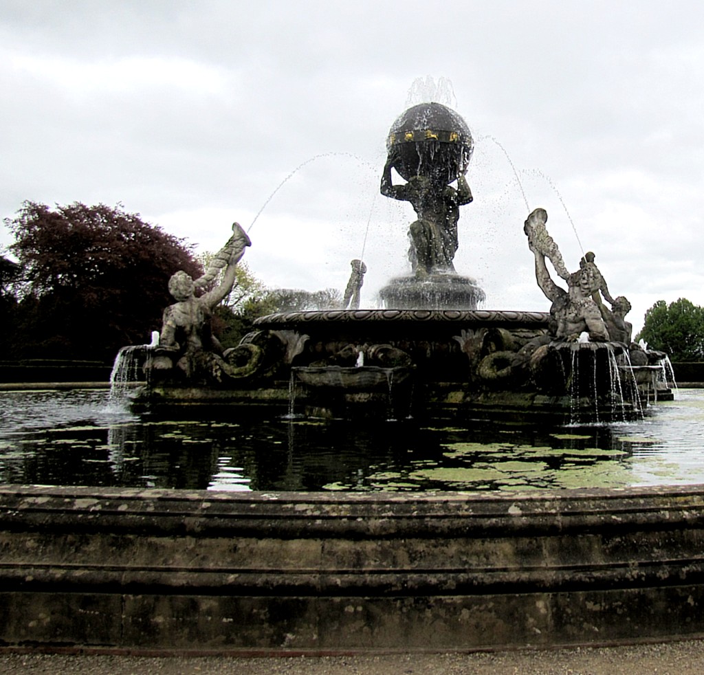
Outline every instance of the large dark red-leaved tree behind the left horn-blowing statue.
{"label": "large dark red-leaved tree behind the left horn-blowing statue", "polygon": [[15,356],[112,360],[161,327],[174,272],[202,272],[182,239],[122,205],[26,201],[5,224],[24,284]]}

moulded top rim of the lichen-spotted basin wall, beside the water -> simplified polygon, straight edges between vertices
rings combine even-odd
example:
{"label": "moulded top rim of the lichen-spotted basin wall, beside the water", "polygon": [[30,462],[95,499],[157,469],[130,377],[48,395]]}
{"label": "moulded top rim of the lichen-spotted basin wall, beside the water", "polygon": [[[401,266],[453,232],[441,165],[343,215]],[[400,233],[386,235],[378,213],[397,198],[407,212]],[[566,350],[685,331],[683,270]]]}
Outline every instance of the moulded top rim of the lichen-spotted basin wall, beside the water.
{"label": "moulded top rim of the lichen-spotted basin wall, beside the water", "polygon": [[[356,493],[230,492],[139,488],[0,486],[0,524],[160,529],[215,536],[427,536],[465,531],[516,534],[608,526],[704,526],[704,485],[544,491]],[[196,523],[197,522],[197,526]]]}

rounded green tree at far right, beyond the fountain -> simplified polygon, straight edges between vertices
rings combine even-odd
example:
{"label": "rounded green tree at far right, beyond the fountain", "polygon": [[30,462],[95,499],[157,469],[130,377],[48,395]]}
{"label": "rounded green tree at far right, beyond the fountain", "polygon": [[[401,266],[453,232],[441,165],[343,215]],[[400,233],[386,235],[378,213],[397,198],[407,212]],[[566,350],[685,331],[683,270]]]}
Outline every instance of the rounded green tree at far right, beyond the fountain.
{"label": "rounded green tree at far right, beyond the fountain", "polygon": [[670,355],[673,361],[704,359],[704,309],[686,298],[667,305],[658,300],[647,312],[643,330],[636,336],[651,349]]}

